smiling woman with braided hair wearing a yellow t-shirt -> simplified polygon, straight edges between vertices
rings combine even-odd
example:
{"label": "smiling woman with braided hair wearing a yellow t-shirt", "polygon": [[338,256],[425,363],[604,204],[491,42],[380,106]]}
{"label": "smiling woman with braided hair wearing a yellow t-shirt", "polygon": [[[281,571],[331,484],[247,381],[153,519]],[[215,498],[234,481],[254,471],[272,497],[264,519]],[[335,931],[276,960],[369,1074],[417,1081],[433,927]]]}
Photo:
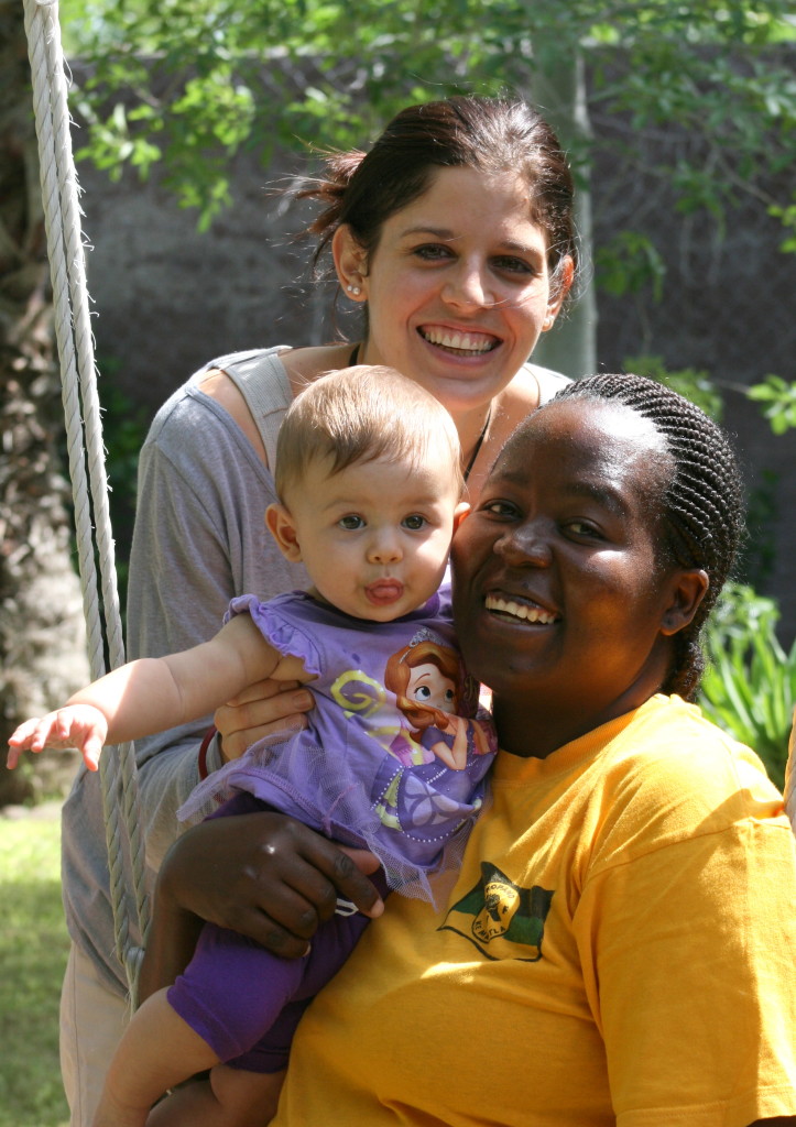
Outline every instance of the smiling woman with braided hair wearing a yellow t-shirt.
{"label": "smiling woman with braided hair wearing a yellow t-shirt", "polygon": [[441,906],[393,897],[310,1006],[274,1127],[796,1125],[796,842],[688,703],[740,530],[720,428],[649,380],[580,381],[512,436],[453,543],[492,804]]}

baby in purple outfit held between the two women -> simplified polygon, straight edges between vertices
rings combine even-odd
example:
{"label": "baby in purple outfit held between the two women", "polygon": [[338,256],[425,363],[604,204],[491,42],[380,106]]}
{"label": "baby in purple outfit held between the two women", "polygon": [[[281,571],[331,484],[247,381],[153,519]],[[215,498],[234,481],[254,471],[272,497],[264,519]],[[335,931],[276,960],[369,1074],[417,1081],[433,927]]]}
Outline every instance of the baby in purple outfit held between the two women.
{"label": "baby in purple outfit held between the two women", "polygon": [[[437,594],[461,503],[453,423],[391,369],[311,383],[280,431],[280,504],[266,523],[312,586],[235,598],[210,641],[122,666],[9,740],[23,751],[103,746],[206,715],[267,677],[311,683],[307,730],[262,740],[200,784],[214,816],[278,809],[377,854],[380,891],[431,897],[426,876],[460,855],[496,743]],[[231,796],[231,797],[229,797]],[[205,924],[185,973],[149,997],[114,1056],[95,1127],[265,1124],[301,1013],[347,958],[368,919],[343,906],[311,951],[281,960]],[[210,1070],[209,1080],[175,1085]]]}

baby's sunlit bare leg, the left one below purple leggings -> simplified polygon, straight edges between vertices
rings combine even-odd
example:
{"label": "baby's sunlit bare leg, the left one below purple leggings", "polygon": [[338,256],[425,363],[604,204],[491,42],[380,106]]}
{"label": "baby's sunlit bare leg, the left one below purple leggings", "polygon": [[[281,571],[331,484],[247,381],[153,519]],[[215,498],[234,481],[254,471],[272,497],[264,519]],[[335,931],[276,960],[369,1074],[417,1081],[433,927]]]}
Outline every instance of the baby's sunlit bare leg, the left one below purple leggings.
{"label": "baby's sunlit bare leg, the left one below purple leggings", "polygon": [[171,1009],[166,993],[147,999],[125,1029],[92,1127],[143,1127],[165,1092],[219,1063],[207,1042]]}

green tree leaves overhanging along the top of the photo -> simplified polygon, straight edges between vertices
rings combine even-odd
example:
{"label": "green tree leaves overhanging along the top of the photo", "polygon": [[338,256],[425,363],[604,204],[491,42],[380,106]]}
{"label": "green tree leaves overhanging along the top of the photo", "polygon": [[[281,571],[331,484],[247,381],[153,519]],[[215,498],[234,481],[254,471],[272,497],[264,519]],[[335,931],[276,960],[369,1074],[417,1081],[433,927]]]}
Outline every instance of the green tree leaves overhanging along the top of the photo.
{"label": "green tree leaves overhanging along the top of the photo", "polygon": [[796,156],[791,11],[788,0],[363,0],[352,19],[336,0],[83,0],[69,43],[92,70],[76,98],[92,122],[85,151],[114,174],[162,160],[204,224],[229,202],[241,147],[267,161],[274,144],[361,144],[408,100],[528,92],[583,56],[589,112],[616,121],[622,159],[645,131],[684,130],[700,150],[662,147],[655,168],[682,211],[720,221],[749,192],[793,225],[789,189],[772,188]]}

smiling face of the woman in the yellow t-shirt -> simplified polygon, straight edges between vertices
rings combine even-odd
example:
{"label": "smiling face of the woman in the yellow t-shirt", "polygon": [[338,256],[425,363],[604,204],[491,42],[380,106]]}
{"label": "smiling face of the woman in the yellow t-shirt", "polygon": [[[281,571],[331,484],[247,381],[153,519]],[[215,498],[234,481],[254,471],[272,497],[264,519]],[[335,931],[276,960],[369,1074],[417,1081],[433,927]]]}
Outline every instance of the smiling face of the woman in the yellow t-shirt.
{"label": "smiling face of the woman in the yellow t-shirt", "polygon": [[706,585],[656,556],[670,472],[652,423],[585,400],[532,416],[498,459],[454,540],[453,605],[508,751],[548,754],[660,689]]}

